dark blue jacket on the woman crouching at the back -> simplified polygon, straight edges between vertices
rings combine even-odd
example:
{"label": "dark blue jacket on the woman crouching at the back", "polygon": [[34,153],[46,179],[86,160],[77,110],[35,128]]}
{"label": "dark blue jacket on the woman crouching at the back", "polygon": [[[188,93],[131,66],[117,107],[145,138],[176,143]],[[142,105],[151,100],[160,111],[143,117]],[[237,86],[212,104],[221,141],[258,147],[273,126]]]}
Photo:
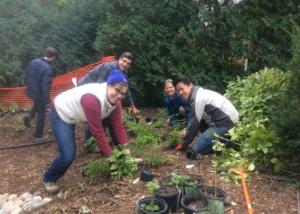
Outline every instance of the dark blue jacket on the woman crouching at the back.
{"label": "dark blue jacket on the woman crouching at the back", "polygon": [[188,103],[183,100],[181,96],[175,93],[172,96],[164,96],[164,102],[168,109],[169,116],[179,113],[179,107],[182,106],[185,111],[185,116],[188,118],[189,106]]}

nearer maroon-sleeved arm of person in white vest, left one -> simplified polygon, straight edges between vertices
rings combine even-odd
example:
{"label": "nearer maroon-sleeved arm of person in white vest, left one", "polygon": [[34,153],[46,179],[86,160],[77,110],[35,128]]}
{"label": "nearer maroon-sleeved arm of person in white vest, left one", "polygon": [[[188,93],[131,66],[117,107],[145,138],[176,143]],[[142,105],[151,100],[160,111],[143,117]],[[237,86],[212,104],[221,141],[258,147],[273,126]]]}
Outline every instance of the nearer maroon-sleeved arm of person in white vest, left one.
{"label": "nearer maroon-sleeved arm of person in white vest, left one", "polygon": [[85,94],[81,97],[81,105],[85,113],[89,129],[95,136],[102,154],[104,156],[111,155],[112,149],[107,142],[102,124],[100,101],[92,94]]}

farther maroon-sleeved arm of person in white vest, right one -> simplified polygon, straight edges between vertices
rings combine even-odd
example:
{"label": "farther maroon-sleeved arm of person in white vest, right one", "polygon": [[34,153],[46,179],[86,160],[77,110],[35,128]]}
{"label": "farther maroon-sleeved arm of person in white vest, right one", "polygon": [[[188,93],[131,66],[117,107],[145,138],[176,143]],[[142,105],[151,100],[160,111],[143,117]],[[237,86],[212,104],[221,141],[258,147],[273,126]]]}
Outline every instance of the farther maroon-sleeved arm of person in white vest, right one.
{"label": "farther maroon-sleeved arm of person in white vest, right one", "polygon": [[116,109],[109,115],[109,124],[119,144],[128,144],[128,136],[122,120],[121,105],[118,104]]}

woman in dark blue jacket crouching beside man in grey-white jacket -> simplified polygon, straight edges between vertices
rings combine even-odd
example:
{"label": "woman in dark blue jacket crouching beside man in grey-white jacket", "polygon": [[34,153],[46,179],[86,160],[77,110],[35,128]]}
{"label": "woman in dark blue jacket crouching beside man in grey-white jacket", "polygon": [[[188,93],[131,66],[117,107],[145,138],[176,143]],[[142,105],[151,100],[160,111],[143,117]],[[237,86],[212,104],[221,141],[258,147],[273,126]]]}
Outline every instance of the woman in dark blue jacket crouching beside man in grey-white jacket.
{"label": "woman in dark blue jacket crouching beside man in grey-white jacket", "polygon": [[189,108],[187,102],[175,91],[173,81],[167,79],[164,84],[164,103],[168,110],[168,123],[173,127],[183,128],[187,126]]}

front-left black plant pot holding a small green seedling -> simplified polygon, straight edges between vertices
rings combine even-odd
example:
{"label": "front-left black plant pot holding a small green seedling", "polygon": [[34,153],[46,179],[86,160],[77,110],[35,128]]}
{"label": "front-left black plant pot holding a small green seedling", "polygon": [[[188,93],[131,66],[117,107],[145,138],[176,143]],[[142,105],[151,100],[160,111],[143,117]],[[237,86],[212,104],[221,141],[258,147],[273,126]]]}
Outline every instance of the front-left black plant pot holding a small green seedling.
{"label": "front-left black plant pot holding a small green seedling", "polygon": [[[159,210],[157,211],[147,211],[146,207],[149,204],[157,205]],[[157,198],[153,196],[145,197],[140,199],[137,202],[137,213],[138,214],[167,214],[168,213],[168,204],[162,198]]]}

